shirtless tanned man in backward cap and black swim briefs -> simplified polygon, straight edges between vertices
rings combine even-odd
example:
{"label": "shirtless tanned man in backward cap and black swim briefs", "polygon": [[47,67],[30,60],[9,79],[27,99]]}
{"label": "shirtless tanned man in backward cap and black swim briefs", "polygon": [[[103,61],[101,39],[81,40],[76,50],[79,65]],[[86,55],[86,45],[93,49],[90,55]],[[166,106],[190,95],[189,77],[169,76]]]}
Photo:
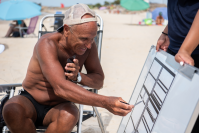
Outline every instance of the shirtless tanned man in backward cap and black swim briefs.
{"label": "shirtless tanned man in backward cap and black swim briefs", "polygon": [[[74,103],[106,108],[120,116],[132,110],[133,105],[120,102],[125,102],[122,98],[98,95],[72,82],[95,89],[103,86],[104,74],[94,42],[96,20],[88,6],[76,4],[66,11],[64,26],[58,32],[39,39],[23,81],[24,91],[3,108],[12,133],[35,133],[35,126],[42,125],[48,126],[46,133],[68,133],[79,119]],[[67,63],[73,55],[74,63]],[[83,65],[87,74],[80,73]]]}

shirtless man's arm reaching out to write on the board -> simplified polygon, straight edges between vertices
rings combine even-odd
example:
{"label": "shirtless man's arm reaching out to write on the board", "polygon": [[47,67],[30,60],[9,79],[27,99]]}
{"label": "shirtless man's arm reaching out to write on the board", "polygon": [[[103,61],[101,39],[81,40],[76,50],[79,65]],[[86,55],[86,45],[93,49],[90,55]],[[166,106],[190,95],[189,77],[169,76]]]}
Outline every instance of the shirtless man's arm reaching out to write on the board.
{"label": "shirtless man's arm reaching out to write on the board", "polygon": [[128,114],[133,108],[133,105],[121,103],[122,98],[98,95],[66,80],[58,59],[57,47],[53,41],[41,38],[35,50],[42,73],[51,84],[56,96],[79,104],[103,107],[122,116]]}

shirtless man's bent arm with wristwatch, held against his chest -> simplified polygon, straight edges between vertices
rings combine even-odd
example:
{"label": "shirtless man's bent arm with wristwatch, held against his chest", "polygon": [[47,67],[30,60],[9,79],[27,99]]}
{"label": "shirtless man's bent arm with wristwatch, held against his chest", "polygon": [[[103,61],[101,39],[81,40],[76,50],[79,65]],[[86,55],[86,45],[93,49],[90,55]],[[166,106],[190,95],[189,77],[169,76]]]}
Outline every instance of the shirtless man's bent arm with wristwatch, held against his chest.
{"label": "shirtless man's bent arm with wristwatch, held against his chest", "polygon": [[[66,64],[65,70],[71,71],[71,73],[65,73],[65,75],[70,80],[76,81],[80,67],[77,59],[74,59],[73,61],[74,63]],[[98,59],[97,47],[95,43],[92,44],[89,55],[84,62],[84,65],[87,70],[87,74],[80,73],[82,79],[79,84],[94,89],[101,89],[101,87],[103,86],[104,73]]]}

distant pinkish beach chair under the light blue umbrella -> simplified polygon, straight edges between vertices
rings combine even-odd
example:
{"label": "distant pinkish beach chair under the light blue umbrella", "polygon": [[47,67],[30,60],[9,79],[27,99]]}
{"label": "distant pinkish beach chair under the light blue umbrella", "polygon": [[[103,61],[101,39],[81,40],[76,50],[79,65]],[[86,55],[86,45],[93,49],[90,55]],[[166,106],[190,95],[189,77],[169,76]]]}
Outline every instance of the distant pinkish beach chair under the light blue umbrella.
{"label": "distant pinkish beach chair under the light blue umbrella", "polygon": [[[24,35],[27,36],[30,34],[33,34],[36,37],[34,31],[35,31],[35,27],[36,27],[38,18],[39,18],[38,16],[31,18],[28,27],[20,27],[20,26],[15,27],[15,28],[19,29],[20,37],[23,37]],[[25,32],[25,30],[27,30],[27,31]]]}

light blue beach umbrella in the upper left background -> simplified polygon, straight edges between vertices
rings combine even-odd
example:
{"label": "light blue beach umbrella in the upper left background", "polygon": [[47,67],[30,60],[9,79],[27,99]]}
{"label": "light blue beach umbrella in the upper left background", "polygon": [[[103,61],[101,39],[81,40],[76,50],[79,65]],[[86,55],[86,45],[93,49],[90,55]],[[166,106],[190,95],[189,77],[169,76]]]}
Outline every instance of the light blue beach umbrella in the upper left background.
{"label": "light blue beach umbrella in the upper left background", "polygon": [[0,4],[0,19],[23,20],[41,15],[41,7],[25,0],[10,0]]}

